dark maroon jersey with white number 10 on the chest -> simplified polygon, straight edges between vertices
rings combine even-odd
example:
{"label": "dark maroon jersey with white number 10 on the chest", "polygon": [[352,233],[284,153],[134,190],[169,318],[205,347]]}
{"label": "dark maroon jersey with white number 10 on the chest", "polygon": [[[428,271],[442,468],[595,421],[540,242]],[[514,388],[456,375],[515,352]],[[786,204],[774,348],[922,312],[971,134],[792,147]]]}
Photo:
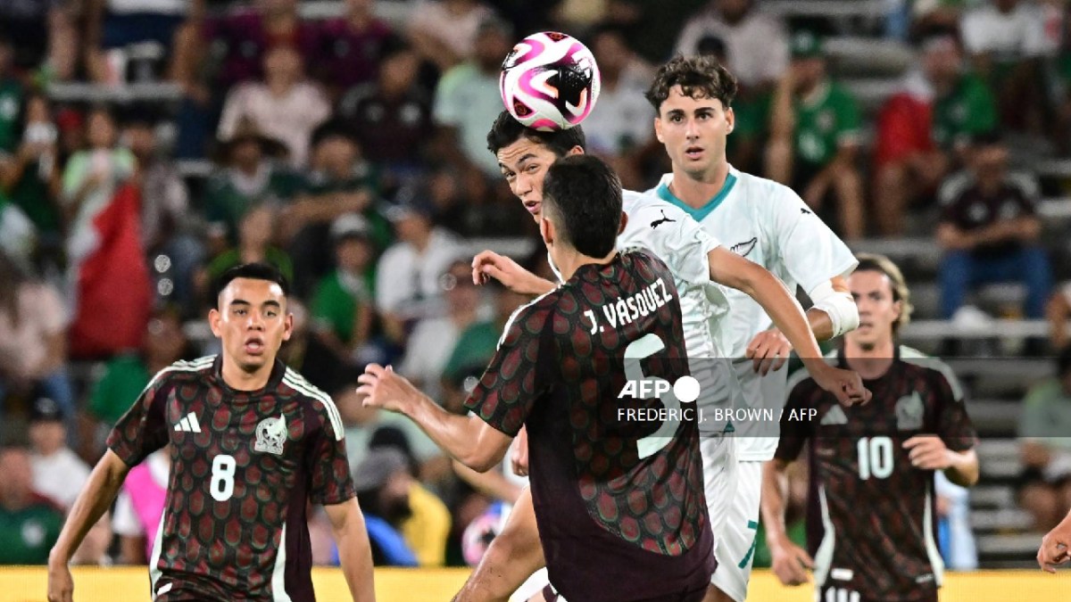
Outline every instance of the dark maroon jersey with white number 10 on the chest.
{"label": "dark maroon jersey with white number 10 on the chest", "polygon": [[[864,406],[841,406],[805,371],[788,382],[775,457],[790,462],[808,445],[808,547],[816,586],[844,596],[835,600],[934,599],[944,570],[934,473],[912,467],[903,443],[927,434],[953,451],[976,443],[951,370],[909,347],[895,353],[884,376],[863,381]],[[835,361],[848,367],[843,351]]]}

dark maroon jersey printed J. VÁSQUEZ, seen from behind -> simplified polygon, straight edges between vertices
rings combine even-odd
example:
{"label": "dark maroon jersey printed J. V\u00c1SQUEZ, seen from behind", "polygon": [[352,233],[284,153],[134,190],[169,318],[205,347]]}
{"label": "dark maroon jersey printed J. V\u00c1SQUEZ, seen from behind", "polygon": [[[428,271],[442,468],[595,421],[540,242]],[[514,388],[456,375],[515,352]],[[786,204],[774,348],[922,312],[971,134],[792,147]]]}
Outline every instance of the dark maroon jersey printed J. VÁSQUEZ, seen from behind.
{"label": "dark maroon jersey printed J. V\u00c1SQUEZ, seen from behind", "polygon": [[627,371],[667,382],[688,375],[680,321],[673,275],[659,259],[629,253],[583,266],[513,315],[466,403],[508,435],[527,426],[550,584],[569,600],[642,600],[709,583],[695,404],[680,404],[692,412],[652,439],[663,422],[624,411],[677,404],[619,398]]}

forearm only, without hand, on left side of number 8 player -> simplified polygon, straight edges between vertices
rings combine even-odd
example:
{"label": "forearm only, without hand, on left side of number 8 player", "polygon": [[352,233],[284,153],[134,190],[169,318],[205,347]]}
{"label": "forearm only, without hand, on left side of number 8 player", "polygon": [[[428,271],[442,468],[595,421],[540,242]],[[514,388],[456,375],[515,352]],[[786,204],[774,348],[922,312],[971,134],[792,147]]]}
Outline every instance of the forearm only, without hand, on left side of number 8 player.
{"label": "forearm only, without hand, on left side of number 8 player", "polygon": [[49,554],[49,563],[66,565],[71,561],[89,530],[111,508],[129,471],[130,467],[115,452],[104,452],[86,487],[71,507],[63,530]]}

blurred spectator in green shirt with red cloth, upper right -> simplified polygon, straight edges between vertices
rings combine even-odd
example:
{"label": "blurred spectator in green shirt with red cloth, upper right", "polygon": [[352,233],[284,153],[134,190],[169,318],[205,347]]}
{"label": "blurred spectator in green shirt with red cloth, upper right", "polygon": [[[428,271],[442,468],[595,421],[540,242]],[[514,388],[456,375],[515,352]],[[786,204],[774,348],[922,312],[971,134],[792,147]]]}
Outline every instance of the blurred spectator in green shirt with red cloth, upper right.
{"label": "blurred spectator in green shirt with red cloth, upper right", "polygon": [[954,31],[931,31],[921,67],[881,107],[874,148],[874,214],[879,234],[903,236],[904,212],[935,197],[970,137],[997,126],[996,101],[965,69]]}

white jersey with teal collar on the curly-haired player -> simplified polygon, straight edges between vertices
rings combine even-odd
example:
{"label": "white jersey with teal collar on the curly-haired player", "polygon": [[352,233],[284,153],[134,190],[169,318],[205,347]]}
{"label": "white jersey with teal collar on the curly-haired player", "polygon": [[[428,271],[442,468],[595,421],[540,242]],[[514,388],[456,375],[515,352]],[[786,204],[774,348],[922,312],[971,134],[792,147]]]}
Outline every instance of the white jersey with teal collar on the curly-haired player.
{"label": "white jersey with teal collar on the curly-haired player", "polygon": [[[731,166],[725,186],[699,209],[693,209],[669,191],[673,175],[662,177],[651,191],[699,222],[704,229],[729,249],[763,266],[781,279],[789,290],[797,286],[811,292],[834,276],[845,276],[858,261],[821,220],[788,186],[739,171]],[[766,378],[758,377],[750,360],[744,359],[748,344],[756,334],[773,326],[755,300],[735,289],[724,289],[733,306],[728,317],[728,358],[733,358],[737,377],[748,404],[776,410],[785,402],[787,371],[782,368]],[[735,424],[737,460],[767,461],[778,447],[776,418]]]}

